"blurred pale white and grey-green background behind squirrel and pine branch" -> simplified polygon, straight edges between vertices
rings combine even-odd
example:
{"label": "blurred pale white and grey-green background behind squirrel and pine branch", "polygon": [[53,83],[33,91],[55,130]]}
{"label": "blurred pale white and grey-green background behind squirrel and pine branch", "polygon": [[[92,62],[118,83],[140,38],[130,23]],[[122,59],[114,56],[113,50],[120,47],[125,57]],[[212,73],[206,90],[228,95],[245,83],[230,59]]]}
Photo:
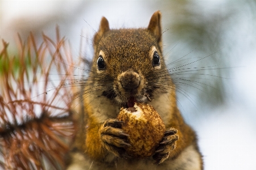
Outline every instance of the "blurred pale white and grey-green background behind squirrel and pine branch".
{"label": "blurred pale white and grey-green background behind squirrel and pine branch", "polygon": [[77,61],[90,60],[102,16],[111,28],[138,28],[156,10],[167,63],[191,70],[180,74],[177,100],[205,169],[255,170],[256,1],[0,1],[0,39],[15,53],[18,33],[54,39],[59,25]]}

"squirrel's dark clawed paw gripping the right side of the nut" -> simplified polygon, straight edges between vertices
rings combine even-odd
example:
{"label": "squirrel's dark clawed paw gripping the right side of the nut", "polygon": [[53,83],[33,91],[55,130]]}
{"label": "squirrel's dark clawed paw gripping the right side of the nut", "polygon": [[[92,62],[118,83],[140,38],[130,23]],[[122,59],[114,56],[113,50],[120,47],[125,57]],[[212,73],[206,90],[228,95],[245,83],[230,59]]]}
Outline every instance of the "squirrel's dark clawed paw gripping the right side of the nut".
{"label": "squirrel's dark clawed paw gripping the right side of the nut", "polygon": [[164,132],[164,137],[153,155],[154,164],[163,163],[169,157],[170,152],[176,148],[176,143],[179,139],[179,136],[176,134],[177,129],[172,127]]}

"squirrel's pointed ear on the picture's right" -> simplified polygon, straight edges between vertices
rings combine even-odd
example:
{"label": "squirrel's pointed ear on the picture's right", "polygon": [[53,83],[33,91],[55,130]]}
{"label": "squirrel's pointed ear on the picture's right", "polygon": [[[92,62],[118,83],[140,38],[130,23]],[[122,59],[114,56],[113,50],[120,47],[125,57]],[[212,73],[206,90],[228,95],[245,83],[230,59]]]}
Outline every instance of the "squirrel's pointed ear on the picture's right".
{"label": "squirrel's pointed ear on the picture's right", "polygon": [[147,27],[147,29],[158,39],[158,43],[162,42],[161,16],[162,14],[160,11],[155,11],[151,16],[150,23]]}

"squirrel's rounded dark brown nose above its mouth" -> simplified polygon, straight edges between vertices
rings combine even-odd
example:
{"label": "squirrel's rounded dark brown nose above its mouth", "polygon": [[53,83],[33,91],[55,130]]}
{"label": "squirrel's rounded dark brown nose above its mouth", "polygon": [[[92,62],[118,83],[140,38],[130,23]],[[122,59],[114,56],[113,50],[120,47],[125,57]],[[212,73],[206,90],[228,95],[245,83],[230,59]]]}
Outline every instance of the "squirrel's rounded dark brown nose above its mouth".
{"label": "squirrel's rounded dark brown nose above its mouth", "polygon": [[121,82],[123,89],[134,90],[137,89],[141,83],[141,76],[139,76],[139,74],[136,72],[127,71],[121,73],[119,81]]}

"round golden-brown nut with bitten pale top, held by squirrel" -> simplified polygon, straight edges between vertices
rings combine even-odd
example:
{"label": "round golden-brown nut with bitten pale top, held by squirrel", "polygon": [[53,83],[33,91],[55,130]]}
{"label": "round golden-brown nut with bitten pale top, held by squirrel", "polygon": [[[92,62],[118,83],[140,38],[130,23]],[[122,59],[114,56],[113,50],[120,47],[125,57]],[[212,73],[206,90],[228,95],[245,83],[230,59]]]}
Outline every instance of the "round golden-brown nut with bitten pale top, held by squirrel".
{"label": "round golden-brown nut with bitten pale top, held by squirrel", "polygon": [[152,156],[163,139],[166,127],[153,106],[135,103],[133,107],[120,109],[117,116],[123,121],[122,130],[128,134],[126,153],[139,158]]}

